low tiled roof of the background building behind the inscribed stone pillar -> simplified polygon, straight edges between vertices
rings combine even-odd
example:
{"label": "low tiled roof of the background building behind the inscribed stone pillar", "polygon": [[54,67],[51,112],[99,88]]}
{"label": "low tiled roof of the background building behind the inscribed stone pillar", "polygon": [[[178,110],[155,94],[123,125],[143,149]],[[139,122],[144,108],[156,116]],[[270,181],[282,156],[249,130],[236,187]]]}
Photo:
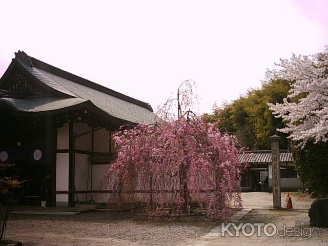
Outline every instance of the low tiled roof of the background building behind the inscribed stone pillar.
{"label": "low tiled roof of the background building behind the inscribed stone pillar", "polygon": [[[245,151],[243,154],[239,155],[239,161],[242,163],[269,163],[271,162],[271,150]],[[280,150],[279,161],[293,162],[293,153]]]}

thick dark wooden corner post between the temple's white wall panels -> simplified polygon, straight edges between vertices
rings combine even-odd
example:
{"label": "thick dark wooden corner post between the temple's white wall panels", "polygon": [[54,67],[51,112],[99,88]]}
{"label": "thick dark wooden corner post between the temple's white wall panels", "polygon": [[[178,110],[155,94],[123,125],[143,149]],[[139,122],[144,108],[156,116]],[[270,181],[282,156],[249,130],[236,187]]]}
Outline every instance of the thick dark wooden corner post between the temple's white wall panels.
{"label": "thick dark wooden corner post between the temple's white wall panels", "polygon": [[75,137],[73,122],[69,123],[69,157],[68,157],[68,206],[75,207]]}

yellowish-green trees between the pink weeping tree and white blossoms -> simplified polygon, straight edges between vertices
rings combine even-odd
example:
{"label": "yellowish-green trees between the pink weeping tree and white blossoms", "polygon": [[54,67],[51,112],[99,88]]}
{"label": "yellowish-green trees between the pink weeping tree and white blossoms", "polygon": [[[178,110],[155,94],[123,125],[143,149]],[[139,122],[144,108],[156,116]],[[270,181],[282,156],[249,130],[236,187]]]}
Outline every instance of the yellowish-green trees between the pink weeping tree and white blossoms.
{"label": "yellowish-green trees between the pink weeping tree and white blossoms", "polygon": [[[233,133],[240,143],[252,150],[270,148],[269,136],[284,126],[280,118],[275,118],[267,103],[279,103],[288,95],[290,82],[276,79],[263,82],[260,89],[249,90],[245,95],[233,100],[222,108],[213,109],[212,114],[204,114],[208,122],[217,122],[221,131]],[[281,134],[281,148],[288,148],[286,134]]]}

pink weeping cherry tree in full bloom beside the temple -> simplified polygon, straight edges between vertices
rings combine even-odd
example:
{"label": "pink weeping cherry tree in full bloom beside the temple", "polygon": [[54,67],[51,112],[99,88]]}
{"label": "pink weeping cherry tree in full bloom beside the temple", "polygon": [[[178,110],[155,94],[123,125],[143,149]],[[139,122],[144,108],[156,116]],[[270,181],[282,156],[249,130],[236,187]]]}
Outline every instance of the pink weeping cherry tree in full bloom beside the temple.
{"label": "pink weeping cherry tree in full bloom beside the temple", "polygon": [[191,213],[193,203],[220,219],[232,207],[241,208],[243,149],[234,136],[190,111],[190,90],[185,92],[178,93],[178,117],[171,111],[156,125],[124,126],[114,136],[120,148],[101,183],[101,189],[113,191],[110,205],[141,203],[150,213],[163,207]]}

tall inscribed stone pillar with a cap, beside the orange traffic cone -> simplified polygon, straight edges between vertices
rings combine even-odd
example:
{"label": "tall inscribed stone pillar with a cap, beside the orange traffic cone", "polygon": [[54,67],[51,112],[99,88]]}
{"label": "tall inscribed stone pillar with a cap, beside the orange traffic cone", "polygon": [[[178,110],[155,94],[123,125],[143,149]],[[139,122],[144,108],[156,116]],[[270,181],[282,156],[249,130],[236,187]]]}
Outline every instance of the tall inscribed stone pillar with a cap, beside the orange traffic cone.
{"label": "tall inscribed stone pillar with a cap, beside the orange traffic cone", "polygon": [[280,162],[279,162],[280,137],[277,135],[273,135],[273,136],[269,137],[269,139],[271,141],[273,208],[281,209]]}

